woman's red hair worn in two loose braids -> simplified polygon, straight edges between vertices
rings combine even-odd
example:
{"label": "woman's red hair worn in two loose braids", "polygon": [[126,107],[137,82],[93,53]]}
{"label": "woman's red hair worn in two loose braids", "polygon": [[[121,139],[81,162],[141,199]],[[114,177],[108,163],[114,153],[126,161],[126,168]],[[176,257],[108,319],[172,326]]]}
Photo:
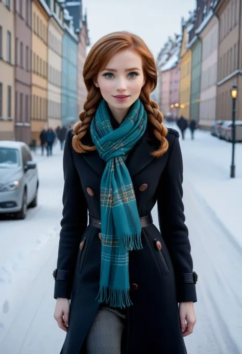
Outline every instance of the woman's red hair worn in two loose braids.
{"label": "woman's red hair worn in two loose braids", "polygon": [[139,98],[148,113],[150,123],[154,126],[153,133],[160,141],[159,149],[152,152],[152,155],[160,157],[167,151],[168,141],[165,138],[167,128],[163,125],[163,115],[158,109],[158,104],[150,98],[150,93],[157,85],[155,60],[148,46],[140,37],[125,31],[113,32],[102,37],[92,46],[87,55],[83,68],[87,99],[83,106],[84,110],[79,114],[80,122],[77,122],[74,126],[72,146],[79,153],[95,150],[95,146],[86,146],[81,142],[102,100],[100,89],[94,85],[94,81],[110,59],[122,50],[133,50],[142,58],[143,74],[146,82],[141,89]]}

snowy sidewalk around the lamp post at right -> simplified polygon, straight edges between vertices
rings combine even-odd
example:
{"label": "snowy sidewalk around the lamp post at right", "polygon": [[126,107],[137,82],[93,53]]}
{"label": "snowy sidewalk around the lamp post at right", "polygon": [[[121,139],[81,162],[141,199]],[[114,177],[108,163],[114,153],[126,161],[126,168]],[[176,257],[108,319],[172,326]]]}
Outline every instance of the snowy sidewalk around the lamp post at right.
{"label": "snowy sidewalk around the lamp post at right", "polygon": [[[174,125],[171,128],[179,129]],[[230,178],[232,144],[196,131],[195,140],[180,140],[184,180],[189,181],[200,203],[214,222],[223,227],[236,247],[242,248],[242,144],[235,145],[235,178]]]}

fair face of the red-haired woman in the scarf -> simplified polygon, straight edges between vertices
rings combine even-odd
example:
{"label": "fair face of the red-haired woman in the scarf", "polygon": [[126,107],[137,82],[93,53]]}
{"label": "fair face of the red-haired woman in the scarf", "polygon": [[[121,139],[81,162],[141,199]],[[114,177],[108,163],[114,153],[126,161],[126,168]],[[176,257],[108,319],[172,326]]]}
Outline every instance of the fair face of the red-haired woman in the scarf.
{"label": "fair face of the red-haired woman in the scarf", "polygon": [[131,50],[115,54],[98,74],[97,83],[109,107],[128,109],[139,97],[144,84],[141,57]]}

